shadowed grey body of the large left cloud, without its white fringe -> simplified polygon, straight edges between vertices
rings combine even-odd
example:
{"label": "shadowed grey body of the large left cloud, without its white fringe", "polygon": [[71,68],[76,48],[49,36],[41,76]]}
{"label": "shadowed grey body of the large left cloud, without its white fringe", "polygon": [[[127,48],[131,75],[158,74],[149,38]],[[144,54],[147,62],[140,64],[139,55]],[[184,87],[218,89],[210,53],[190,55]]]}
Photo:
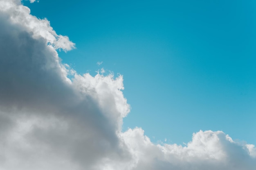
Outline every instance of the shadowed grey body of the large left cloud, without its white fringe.
{"label": "shadowed grey body of the large left cloud, without its white fringe", "polygon": [[[23,162],[28,158],[34,162],[30,168],[39,169],[37,166],[54,157],[52,160],[67,160],[84,169],[109,154],[120,157],[116,126],[110,124],[92,96],[72,87],[56,51],[45,39],[33,38],[33,33],[10,23],[7,17],[0,22],[0,110],[4,122],[0,132],[7,136],[0,142],[4,151],[0,155],[9,157],[4,169],[12,169],[15,162],[19,169],[27,169],[30,162]],[[30,126],[18,134],[29,149],[13,138],[20,124]]]}

